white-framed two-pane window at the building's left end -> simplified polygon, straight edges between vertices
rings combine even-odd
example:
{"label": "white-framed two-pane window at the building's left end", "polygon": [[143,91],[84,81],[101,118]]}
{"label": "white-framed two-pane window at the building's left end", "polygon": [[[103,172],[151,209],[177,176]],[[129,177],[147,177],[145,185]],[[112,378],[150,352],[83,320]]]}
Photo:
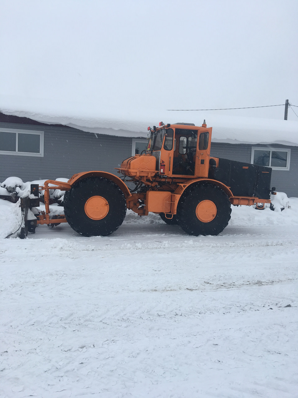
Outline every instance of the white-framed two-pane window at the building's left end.
{"label": "white-framed two-pane window at the building's left end", "polygon": [[43,131],[0,128],[0,154],[43,156]]}

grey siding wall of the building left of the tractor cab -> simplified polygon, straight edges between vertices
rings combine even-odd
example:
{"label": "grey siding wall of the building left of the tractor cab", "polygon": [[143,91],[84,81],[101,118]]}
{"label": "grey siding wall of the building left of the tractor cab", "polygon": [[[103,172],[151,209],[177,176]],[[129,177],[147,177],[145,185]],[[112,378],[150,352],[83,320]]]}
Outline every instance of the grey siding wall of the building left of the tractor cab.
{"label": "grey siding wall of the building left of the tractor cab", "polygon": [[0,182],[16,176],[23,181],[70,178],[75,173],[103,170],[117,174],[132,155],[132,138],[85,133],[68,127],[0,123],[0,127],[44,131],[44,156],[0,154]]}

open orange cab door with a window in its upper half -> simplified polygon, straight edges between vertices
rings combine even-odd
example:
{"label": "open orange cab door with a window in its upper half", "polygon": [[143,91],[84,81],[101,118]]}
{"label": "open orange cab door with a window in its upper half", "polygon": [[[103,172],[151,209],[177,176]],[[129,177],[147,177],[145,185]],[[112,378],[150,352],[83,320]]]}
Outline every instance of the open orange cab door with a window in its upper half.
{"label": "open orange cab door with a window in its upper half", "polygon": [[195,177],[208,177],[212,127],[200,129],[195,156]]}

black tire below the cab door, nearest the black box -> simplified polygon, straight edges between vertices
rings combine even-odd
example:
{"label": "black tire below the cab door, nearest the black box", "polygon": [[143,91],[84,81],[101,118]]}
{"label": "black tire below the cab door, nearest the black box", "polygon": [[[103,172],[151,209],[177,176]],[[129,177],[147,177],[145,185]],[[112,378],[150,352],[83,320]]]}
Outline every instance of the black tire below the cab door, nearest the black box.
{"label": "black tire below the cab door, nearest the black box", "polygon": [[[202,222],[196,213],[199,203],[203,201],[213,202],[216,207],[215,217],[211,215],[210,217],[214,218],[208,222]],[[204,203],[201,205],[204,206]],[[191,185],[178,203],[178,224],[189,235],[218,235],[228,225],[230,218],[231,204],[228,195],[220,187],[211,183]]]}

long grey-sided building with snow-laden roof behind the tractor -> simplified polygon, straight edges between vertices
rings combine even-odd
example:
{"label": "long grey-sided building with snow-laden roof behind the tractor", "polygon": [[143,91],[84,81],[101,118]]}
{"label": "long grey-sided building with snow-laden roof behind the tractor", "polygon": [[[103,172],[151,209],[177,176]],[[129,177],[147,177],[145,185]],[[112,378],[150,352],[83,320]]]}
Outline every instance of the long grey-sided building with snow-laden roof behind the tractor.
{"label": "long grey-sided building with snow-laden roof behind the tractor", "polygon": [[[211,156],[270,166],[271,185],[298,197],[297,122],[212,119]],[[114,167],[122,160],[147,147],[149,123],[132,123],[131,130],[127,122],[93,121],[87,127],[86,121],[79,123],[49,124],[0,113],[0,181],[10,176],[23,181],[70,178],[88,170],[116,174]]]}

